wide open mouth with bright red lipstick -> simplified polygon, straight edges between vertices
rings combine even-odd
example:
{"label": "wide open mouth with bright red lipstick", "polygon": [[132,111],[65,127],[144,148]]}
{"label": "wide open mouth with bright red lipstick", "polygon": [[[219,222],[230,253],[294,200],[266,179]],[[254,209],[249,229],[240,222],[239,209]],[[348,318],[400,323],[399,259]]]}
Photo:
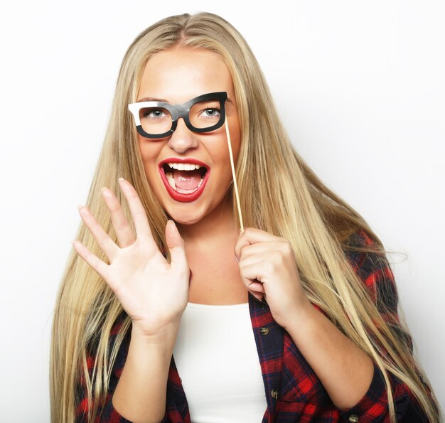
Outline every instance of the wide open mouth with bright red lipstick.
{"label": "wide open mouth with bright red lipstick", "polygon": [[200,196],[210,173],[205,164],[194,159],[166,159],[159,165],[159,171],[170,196],[183,202]]}

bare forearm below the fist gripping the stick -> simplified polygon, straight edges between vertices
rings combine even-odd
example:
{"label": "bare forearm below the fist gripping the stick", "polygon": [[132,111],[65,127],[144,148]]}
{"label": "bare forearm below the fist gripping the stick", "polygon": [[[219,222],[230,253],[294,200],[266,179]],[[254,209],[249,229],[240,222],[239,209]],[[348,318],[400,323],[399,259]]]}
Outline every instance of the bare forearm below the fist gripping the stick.
{"label": "bare forearm below the fist gripping the stick", "polygon": [[368,391],[370,357],[308,301],[286,322],[292,340],[339,409],[353,407]]}

